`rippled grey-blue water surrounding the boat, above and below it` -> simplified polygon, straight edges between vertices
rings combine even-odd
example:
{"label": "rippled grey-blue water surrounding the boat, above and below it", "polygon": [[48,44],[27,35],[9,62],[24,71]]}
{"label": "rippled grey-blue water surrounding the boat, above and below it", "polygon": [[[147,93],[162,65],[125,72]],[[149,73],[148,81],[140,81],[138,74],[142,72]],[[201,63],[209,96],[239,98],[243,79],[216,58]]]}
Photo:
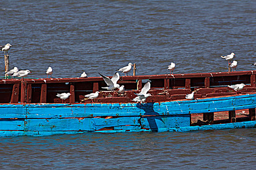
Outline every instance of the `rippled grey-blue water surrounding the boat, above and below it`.
{"label": "rippled grey-blue water surrounding the boat, above and below it", "polygon": [[[10,68],[30,77],[236,70],[256,62],[255,0],[0,0],[0,44]],[[1,52],[3,55],[3,52]],[[2,58],[1,70],[4,73]],[[79,134],[0,140],[1,169],[248,169],[256,167],[256,129],[194,133]]]}

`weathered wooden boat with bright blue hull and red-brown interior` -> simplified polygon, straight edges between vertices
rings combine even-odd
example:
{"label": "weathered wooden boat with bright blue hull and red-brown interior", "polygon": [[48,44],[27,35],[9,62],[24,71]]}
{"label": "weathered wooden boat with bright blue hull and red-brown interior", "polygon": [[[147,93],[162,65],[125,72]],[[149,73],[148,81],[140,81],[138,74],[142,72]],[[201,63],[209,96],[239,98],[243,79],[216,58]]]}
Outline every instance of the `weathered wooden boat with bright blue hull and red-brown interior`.
{"label": "weathered wooden boat with bright blue hull and red-brown interior", "polygon": [[[94,102],[84,95],[105,86],[101,77],[1,80],[0,136],[255,128],[255,73],[124,76],[125,95],[102,91]],[[152,96],[133,102],[146,81]],[[247,86],[237,94],[227,87],[238,83]],[[185,99],[195,89],[195,99]],[[56,97],[61,92],[71,93],[66,103]]]}

